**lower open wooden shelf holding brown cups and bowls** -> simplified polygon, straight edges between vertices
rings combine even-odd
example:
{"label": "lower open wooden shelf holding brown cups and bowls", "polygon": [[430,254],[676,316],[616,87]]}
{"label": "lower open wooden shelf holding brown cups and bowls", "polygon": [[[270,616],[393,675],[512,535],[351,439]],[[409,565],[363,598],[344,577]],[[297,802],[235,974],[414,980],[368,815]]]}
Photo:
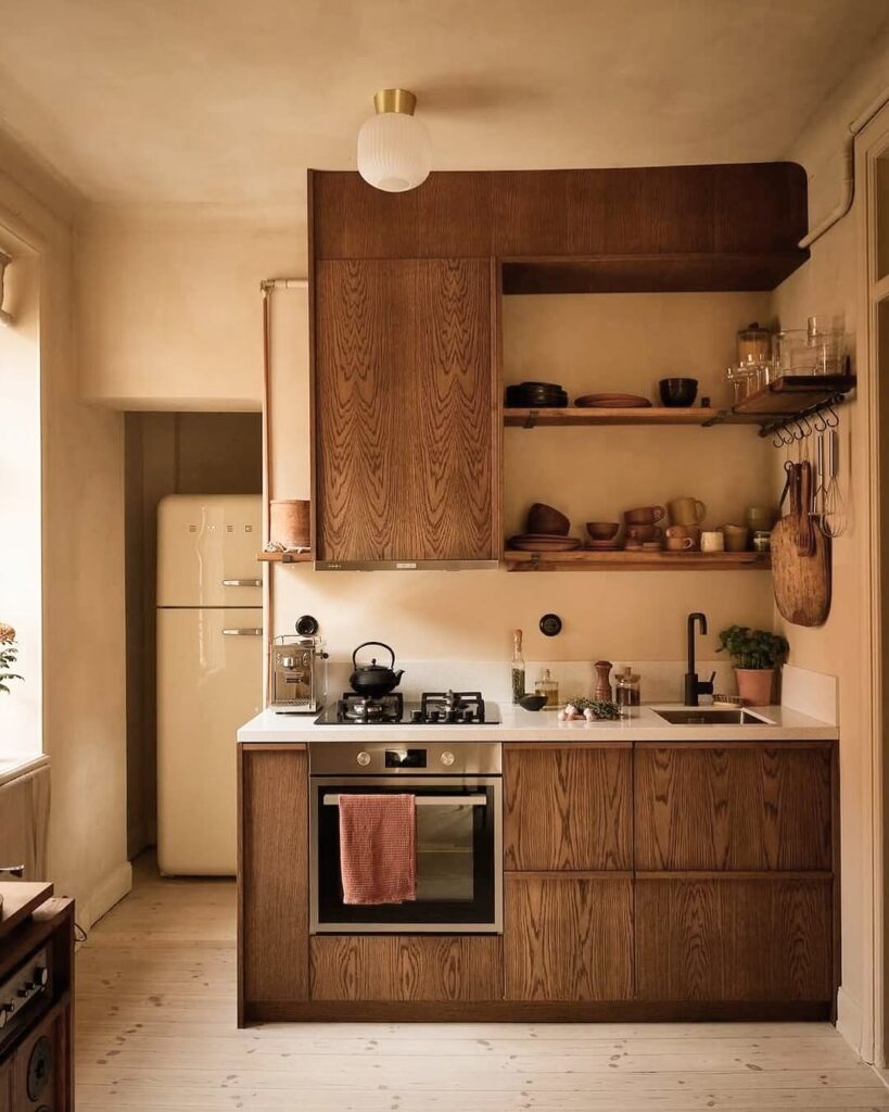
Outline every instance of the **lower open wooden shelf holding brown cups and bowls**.
{"label": "lower open wooden shelf holding brown cups and bowls", "polygon": [[505,552],[508,572],[768,572],[769,553]]}

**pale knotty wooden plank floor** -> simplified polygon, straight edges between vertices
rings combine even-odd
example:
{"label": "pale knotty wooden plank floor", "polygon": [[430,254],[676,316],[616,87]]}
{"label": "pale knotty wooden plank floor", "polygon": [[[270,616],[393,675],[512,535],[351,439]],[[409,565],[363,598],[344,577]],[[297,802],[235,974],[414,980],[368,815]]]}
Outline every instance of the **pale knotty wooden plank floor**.
{"label": "pale knotty wooden plank floor", "polygon": [[889,1112],[825,1023],[234,1025],[234,886],[150,861],[78,952],[79,1112]]}

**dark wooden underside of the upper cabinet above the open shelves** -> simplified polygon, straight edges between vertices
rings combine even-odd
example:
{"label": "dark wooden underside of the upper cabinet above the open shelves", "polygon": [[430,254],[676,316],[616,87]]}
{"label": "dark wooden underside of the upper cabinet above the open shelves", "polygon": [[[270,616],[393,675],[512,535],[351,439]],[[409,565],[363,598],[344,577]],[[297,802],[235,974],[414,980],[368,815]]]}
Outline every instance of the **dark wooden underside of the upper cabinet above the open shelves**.
{"label": "dark wooden underside of the upper cabinet above the open shelves", "polygon": [[803,250],[502,259],[503,294],[689,294],[772,290]]}

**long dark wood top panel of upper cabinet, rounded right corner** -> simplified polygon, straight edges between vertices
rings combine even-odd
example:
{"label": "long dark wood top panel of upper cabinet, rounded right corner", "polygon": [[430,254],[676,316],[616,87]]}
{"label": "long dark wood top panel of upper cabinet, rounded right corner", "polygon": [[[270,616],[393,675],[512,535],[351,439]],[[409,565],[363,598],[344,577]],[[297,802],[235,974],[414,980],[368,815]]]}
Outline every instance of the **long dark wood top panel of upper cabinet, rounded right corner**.
{"label": "long dark wood top panel of upper cabinet, rounded right corner", "polygon": [[793,162],[437,171],[406,193],[312,171],[317,259],[808,255],[807,179]]}

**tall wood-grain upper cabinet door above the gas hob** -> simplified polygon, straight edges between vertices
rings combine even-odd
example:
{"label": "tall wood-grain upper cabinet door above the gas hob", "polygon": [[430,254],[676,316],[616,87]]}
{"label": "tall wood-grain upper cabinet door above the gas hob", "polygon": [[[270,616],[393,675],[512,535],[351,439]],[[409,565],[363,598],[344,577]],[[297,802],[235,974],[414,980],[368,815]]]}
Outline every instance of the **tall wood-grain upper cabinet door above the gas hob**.
{"label": "tall wood-grain upper cabinet door above the gas hob", "polygon": [[498,557],[492,295],[489,259],[316,264],[318,559]]}

